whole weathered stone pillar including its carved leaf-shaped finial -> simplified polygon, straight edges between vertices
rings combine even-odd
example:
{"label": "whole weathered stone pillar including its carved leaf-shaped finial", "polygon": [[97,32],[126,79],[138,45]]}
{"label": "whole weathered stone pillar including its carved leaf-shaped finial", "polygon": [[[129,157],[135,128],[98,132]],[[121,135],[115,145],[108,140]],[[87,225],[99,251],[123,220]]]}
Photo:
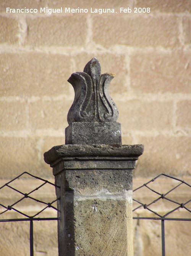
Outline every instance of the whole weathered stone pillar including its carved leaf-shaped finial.
{"label": "whole weathered stone pillar including its carved leaf-shaped finial", "polygon": [[66,145],[45,152],[57,189],[59,256],[133,256],[133,169],[143,145],[121,145],[113,74],[93,58],[68,81],[75,91]]}

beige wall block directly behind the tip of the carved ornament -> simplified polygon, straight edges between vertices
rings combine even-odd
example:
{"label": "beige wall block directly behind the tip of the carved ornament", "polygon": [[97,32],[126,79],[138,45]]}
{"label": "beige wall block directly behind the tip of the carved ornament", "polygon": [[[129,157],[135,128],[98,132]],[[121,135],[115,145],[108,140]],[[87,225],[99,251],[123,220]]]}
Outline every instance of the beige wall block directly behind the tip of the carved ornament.
{"label": "beige wall block directly behind the tip of the carved ornament", "polygon": [[[99,59],[101,64],[101,73],[113,73],[115,74],[115,78],[110,83],[110,94],[113,96],[120,95],[123,96],[124,92],[127,91],[126,87],[126,60],[124,55],[120,55],[117,53],[81,53],[78,55],[74,55],[74,71],[83,71],[82,67],[85,66],[87,59],[91,59],[96,57]],[[115,101],[115,97],[114,97]]]}

